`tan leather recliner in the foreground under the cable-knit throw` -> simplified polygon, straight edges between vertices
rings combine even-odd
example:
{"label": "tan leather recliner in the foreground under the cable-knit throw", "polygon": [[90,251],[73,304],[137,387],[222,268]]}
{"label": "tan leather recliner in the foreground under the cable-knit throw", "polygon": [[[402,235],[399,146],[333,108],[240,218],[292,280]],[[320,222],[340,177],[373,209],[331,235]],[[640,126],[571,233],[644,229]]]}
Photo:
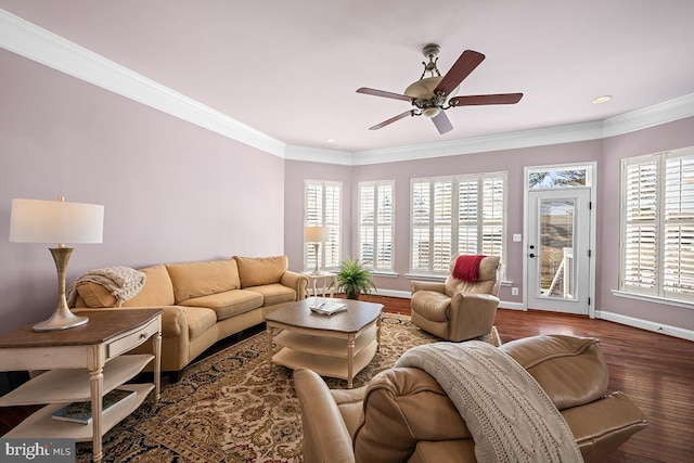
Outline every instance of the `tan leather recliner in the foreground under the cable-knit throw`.
{"label": "tan leather recliner in the foreground under the cable-knit throw", "polygon": [[[608,371],[594,338],[543,335],[500,347],[544,389],[586,462],[600,462],[646,426],[622,393],[607,394]],[[475,442],[438,383],[422,370],[389,369],[358,389],[329,389],[294,372],[301,406],[304,462],[476,462]]]}

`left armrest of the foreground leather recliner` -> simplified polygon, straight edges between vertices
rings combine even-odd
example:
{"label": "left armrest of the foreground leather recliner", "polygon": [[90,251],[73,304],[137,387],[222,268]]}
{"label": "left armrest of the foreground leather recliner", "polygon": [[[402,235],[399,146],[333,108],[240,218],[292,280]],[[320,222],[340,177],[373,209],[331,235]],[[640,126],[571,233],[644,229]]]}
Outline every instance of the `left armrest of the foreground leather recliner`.
{"label": "left armrest of the foreground leather recliner", "polygon": [[313,371],[294,371],[301,407],[304,462],[355,462],[349,430],[325,382]]}

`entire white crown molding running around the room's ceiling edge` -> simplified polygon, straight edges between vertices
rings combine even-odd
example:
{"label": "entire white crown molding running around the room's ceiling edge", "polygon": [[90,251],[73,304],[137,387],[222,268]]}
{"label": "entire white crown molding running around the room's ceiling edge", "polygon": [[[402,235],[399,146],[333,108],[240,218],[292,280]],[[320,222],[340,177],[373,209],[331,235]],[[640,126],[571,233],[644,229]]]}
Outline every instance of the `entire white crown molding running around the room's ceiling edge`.
{"label": "entire white crown molding running around the room's ceiling edge", "polygon": [[0,47],[266,153],[322,164],[359,166],[597,140],[694,116],[693,93],[604,120],[383,150],[322,150],[287,145],[2,9]]}

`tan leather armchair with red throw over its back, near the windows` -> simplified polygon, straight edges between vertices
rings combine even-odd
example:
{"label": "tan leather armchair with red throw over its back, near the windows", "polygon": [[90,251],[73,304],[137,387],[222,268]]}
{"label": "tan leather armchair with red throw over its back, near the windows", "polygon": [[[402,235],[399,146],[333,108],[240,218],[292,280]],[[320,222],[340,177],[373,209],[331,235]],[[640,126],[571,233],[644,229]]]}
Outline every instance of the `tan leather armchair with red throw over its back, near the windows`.
{"label": "tan leather armchair with red throw over its back, near the windows", "polygon": [[450,262],[446,282],[412,281],[412,323],[454,343],[492,331],[499,306],[500,258],[485,257],[475,282],[453,278],[458,255]]}

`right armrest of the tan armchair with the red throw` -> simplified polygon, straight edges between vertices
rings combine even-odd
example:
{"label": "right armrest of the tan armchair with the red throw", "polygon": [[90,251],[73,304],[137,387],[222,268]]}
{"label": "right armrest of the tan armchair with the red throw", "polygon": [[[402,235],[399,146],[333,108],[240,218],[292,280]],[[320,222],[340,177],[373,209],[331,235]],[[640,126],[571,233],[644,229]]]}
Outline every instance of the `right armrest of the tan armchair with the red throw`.
{"label": "right armrest of the tan armchair with the red throw", "polygon": [[491,294],[457,293],[449,307],[448,335],[453,343],[483,336],[491,331],[499,298]]}

